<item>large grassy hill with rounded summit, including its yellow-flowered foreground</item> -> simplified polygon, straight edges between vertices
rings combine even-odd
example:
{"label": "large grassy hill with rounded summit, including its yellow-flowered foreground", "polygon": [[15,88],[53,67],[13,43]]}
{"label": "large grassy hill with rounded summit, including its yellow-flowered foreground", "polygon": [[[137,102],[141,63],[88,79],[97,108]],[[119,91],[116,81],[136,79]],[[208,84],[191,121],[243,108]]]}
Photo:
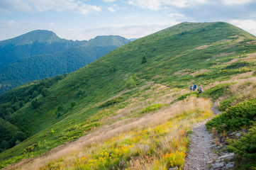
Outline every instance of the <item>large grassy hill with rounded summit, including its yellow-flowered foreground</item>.
{"label": "large grassy hill with rounded summit, including its yellow-flowered foreground", "polygon": [[[229,23],[180,23],[118,47],[52,86],[2,94],[1,121],[10,136],[0,167],[28,159],[6,169],[182,168],[191,127],[212,117],[214,101],[228,111],[255,98],[255,44],[255,36]],[[204,93],[189,91],[193,83]]]}

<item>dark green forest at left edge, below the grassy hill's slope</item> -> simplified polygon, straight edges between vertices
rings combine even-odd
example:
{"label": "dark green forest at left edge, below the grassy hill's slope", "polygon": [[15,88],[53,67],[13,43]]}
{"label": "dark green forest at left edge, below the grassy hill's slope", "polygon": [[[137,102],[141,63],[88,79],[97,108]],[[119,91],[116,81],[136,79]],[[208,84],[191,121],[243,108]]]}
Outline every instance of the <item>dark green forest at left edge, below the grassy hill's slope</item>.
{"label": "dark green forest at left edge, below the grassy hill's slope", "polygon": [[29,101],[32,101],[31,108],[38,108],[40,103],[36,97],[48,96],[48,89],[66,76],[67,74],[63,74],[41,81],[33,81],[0,95],[0,152],[18,145],[27,138],[26,130],[15,125],[17,121],[21,120],[17,120],[13,113]]}

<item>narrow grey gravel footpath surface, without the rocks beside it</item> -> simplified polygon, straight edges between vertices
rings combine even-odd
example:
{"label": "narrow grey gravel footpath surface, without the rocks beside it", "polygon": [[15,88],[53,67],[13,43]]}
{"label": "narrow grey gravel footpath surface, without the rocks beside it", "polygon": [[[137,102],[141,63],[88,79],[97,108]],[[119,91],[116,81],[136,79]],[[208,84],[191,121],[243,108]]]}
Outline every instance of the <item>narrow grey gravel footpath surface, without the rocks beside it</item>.
{"label": "narrow grey gravel footpath surface, without the rocks beside it", "polygon": [[[212,106],[212,111],[215,115],[221,113],[218,111],[215,105]],[[207,162],[211,162],[214,157],[218,157],[214,154],[213,137],[206,130],[205,120],[201,123],[196,123],[192,128],[190,138],[190,151],[187,154],[184,170],[203,170],[208,169]]]}

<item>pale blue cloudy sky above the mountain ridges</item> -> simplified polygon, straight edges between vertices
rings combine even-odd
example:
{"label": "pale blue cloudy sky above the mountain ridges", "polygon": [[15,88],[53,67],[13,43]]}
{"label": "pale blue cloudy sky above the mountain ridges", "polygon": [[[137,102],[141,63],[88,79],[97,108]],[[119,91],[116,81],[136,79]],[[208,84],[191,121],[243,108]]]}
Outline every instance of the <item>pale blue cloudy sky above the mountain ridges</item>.
{"label": "pale blue cloudy sky above the mountain ridges", "polygon": [[0,40],[38,29],[67,40],[141,38],[185,21],[224,21],[256,35],[256,0],[0,0]]}

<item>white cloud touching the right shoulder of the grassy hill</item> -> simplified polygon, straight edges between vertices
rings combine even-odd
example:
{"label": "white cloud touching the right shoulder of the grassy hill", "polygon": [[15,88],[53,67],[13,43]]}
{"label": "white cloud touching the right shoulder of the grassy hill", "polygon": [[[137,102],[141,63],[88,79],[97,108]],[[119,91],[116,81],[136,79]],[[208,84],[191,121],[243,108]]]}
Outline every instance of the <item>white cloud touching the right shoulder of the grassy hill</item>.
{"label": "white cloud touching the right shoulder of the grassy hill", "polygon": [[229,20],[228,23],[231,23],[234,26],[242,28],[243,30],[246,30],[247,32],[249,32],[251,34],[256,35],[256,20],[233,19],[233,20]]}

